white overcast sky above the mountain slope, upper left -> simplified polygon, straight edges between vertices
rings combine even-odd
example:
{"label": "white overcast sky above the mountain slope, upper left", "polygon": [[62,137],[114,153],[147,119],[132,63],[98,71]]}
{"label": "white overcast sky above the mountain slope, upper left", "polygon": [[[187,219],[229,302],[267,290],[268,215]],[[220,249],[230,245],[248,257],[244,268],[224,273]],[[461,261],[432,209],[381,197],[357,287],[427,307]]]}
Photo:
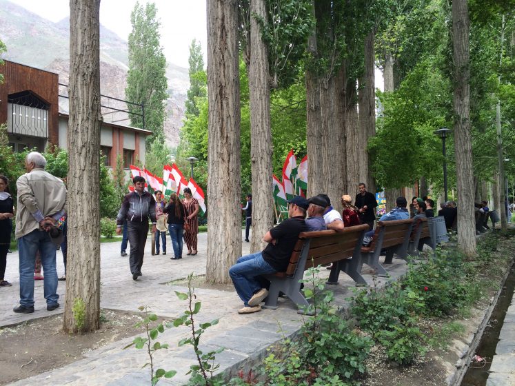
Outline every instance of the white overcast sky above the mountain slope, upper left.
{"label": "white overcast sky above the mountain slope, upper left", "polygon": [[[69,0],[10,0],[51,21],[60,21],[70,15]],[[147,1],[141,0],[141,4]],[[205,0],[154,0],[161,21],[161,45],[166,59],[188,68],[190,43],[201,42],[206,61]],[[130,12],[136,0],[101,0],[100,23],[122,39],[127,40],[132,29]]]}

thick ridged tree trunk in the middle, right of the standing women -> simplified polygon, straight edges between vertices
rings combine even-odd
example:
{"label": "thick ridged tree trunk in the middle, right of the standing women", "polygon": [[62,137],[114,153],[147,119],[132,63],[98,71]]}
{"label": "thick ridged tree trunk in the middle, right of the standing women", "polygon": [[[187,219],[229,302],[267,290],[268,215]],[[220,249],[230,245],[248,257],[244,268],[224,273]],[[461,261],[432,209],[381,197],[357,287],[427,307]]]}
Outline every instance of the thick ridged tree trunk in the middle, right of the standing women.
{"label": "thick ridged tree trunk in the middle, right of the standing women", "polygon": [[241,199],[238,1],[208,0],[207,8],[210,214],[205,277],[209,283],[230,283],[229,268],[241,256],[241,210],[235,205]]}

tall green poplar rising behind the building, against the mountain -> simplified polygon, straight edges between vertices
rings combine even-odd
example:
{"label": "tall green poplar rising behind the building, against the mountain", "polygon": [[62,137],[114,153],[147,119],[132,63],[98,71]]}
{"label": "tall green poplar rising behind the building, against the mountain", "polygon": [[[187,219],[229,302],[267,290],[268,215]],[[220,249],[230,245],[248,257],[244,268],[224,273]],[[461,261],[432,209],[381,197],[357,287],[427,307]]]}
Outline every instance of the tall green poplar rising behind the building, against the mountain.
{"label": "tall green poplar rising behind the building, against the mountain", "polygon": [[[125,99],[133,103],[143,103],[145,110],[145,129],[154,134],[163,134],[166,119],[165,101],[168,88],[165,71],[166,59],[159,42],[160,23],[156,18],[156,6],[147,3],[145,8],[139,2],[130,15],[132,32],[129,34],[129,70]],[[141,114],[138,106],[128,105],[131,113]],[[143,128],[143,119],[130,114],[131,125]],[[147,137],[147,145],[154,141]]]}

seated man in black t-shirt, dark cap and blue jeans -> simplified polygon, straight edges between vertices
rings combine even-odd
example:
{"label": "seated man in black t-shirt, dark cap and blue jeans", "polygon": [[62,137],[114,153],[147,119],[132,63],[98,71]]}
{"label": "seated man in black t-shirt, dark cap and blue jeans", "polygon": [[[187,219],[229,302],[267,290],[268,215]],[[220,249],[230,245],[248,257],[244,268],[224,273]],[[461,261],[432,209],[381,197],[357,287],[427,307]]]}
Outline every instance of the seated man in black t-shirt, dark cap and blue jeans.
{"label": "seated man in black t-shirt, dark cap and blue jeans", "polygon": [[285,272],[299,233],[307,232],[304,221],[307,207],[309,203],[306,199],[294,196],[288,201],[289,219],[273,227],[263,236],[263,241],[268,243],[265,249],[241,256],[230,268],[232,283],[244,305],[239,309],[239,314],[261,311],[260,303],[266,298],[268,291],[261,287],[258,276]]}

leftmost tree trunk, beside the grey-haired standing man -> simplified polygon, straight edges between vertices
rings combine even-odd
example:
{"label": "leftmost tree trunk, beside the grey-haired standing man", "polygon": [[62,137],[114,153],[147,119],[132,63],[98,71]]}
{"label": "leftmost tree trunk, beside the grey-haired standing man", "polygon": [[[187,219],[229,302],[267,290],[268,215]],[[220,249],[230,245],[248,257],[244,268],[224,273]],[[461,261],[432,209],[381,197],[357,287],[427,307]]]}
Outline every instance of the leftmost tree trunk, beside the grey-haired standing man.
{"label": "leftmost tree trunk, beside the grey-haired standing man", "polygon": [[99,9],[99,0],[70,0],[65,332],[77,331],[72,311],[77,299],[85,305],[83,330],[98,329],[100,321]]}

